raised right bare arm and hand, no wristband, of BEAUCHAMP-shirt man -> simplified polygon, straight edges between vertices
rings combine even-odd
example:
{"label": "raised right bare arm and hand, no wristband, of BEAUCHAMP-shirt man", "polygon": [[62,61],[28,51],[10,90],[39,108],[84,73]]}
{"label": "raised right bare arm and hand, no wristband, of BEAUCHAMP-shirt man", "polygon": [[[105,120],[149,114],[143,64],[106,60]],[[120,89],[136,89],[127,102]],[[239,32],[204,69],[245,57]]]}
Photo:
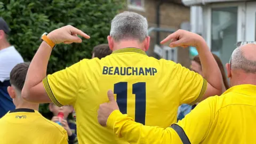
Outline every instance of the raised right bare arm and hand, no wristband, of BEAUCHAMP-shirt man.
{"label": "raised right bare arm and hand, no wristband, of BEAUCHAMP-shirt man", "polygon": [[170,47],[196,47],[202,63],[203,76],[207,81],[206,91],[201,100],[212,95],[220,95],[222,93],[221,72],[203,37],[186,30],[177,30],[161,43],[164,44],[168,41],[171,41]]}

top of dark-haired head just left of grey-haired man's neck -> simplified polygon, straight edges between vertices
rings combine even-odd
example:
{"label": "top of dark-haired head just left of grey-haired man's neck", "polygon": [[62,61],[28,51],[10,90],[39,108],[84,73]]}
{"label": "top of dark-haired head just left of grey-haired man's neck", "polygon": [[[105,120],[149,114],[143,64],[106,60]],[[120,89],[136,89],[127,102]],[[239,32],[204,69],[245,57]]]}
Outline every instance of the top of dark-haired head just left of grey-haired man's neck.
{"label": "top of dark-haired head just left of grey-haired man's neck", "polygon": [[92,58],[105,58],[107,55],[111,53],[112,51],[109,49],[108,44],[100,44],[93,47]]}

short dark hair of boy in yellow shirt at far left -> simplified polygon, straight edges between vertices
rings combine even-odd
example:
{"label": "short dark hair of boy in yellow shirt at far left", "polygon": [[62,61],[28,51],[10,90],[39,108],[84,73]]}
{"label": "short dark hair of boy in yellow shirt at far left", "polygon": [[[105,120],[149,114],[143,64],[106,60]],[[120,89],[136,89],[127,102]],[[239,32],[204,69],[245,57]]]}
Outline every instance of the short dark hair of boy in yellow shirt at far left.
{"label": "short dark hair of boy in yellow shirt at far left", "polygon": [[16,65],[10,73],[10,83],[15,87],[15,90],[20,91],[25,83],[26,75],[28,72],[29,63],[23,62]]}

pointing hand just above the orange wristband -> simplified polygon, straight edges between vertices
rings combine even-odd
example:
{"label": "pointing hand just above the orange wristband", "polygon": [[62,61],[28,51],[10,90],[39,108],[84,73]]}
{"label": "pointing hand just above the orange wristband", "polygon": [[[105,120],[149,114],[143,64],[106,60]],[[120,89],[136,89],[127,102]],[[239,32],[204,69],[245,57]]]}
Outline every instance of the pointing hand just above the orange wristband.
{"label": "pointing hand just above the orange wristband", "polygon": [[86,35],[82,30],[79,30],[70,25],[55,29],[51,33],[49,33],[47,36],[55,44],[81,43],[82,39],[79,38],[77,35],[81,35],[84,38],[90,38],[90,36]]}

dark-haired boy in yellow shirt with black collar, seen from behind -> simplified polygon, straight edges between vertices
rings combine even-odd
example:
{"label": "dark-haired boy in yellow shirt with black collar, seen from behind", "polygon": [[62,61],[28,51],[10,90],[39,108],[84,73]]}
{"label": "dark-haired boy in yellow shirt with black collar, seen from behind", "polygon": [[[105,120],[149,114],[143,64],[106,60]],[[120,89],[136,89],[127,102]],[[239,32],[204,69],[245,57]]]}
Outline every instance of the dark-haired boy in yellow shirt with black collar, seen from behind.
{"label": "dark-haired boy in yellow shirt with black collar, seen from behind", "polygon": [[11,86],[7,87],[7,91],[16,108],[0,119],[0,143],[67,144],[67,131],[44,118],[38,112],[38,103],[30,103],[21,98],[28,67],[29,63],[19,63],[11,71]]}

